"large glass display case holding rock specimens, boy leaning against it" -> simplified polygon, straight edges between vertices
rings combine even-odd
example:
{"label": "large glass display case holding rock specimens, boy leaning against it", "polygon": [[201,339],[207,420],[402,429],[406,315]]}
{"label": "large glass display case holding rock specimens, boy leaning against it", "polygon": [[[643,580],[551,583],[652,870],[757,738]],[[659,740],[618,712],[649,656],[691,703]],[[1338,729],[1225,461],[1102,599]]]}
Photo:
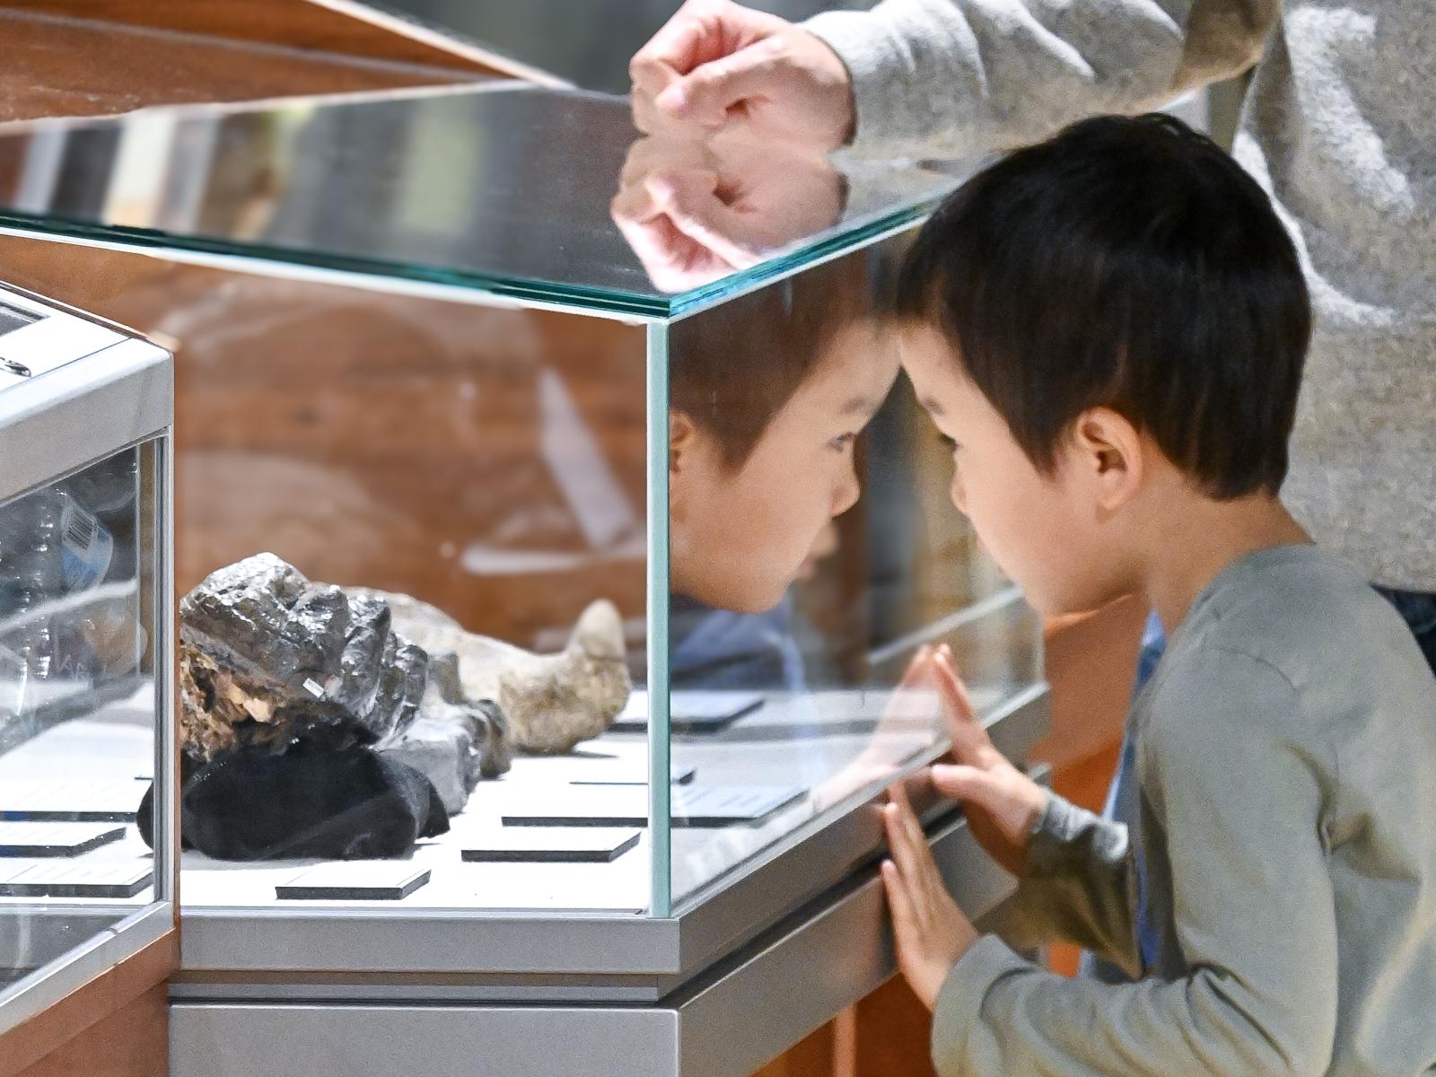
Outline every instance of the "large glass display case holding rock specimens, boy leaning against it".
{"label": "large glass display case holding rock specimens, boy leaning against it", "polygon": [[287,1073],[208,1022],[299,999],[658,1004],[840,895],[879,975],[919,649],[1014,758],[1047,721],[885,316],[962,174],[517,83],[0,134],[0,264],[177,352],[181,1058]]}

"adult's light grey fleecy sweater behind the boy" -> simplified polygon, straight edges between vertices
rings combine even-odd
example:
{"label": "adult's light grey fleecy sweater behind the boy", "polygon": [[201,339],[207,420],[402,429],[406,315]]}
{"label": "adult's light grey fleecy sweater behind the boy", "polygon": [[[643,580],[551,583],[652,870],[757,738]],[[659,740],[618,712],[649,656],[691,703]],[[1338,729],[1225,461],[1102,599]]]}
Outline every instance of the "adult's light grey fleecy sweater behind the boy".
{"label": "adult's light grey fleecy sweater behind the boy", "polygon": [[1317,314],[1284,494],[1373,580],[1436,590],[1436,3],[886,0],[807,27],[883,154],[984,154],[1256,63],[1235,155]]}

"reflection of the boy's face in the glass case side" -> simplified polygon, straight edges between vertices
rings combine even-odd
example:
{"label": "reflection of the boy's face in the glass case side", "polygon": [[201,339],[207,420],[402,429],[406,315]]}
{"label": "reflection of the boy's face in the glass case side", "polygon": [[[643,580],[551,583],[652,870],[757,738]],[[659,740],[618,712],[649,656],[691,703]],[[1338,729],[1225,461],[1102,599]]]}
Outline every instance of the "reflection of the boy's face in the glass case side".
{"label": "reflection of the boy's face in the glass case side", "polygon": [[827,524],[857,501],[853,444],[896,376],[896,355],[875,346],[872,329],[839,333],[737,468],[712,435],[676,419],[673,589],[718,609],[773,609]]}

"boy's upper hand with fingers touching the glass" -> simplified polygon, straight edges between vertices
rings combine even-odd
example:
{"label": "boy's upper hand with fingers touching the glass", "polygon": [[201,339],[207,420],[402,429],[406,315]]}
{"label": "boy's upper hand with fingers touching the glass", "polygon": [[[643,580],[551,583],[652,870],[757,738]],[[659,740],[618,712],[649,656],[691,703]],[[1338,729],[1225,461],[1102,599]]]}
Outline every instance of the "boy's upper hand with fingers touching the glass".
{"label": "boy's upper hand with fingers touching the glass", "polygon": [[992,745],[946,645],[938,649],[933,673],[958,763],[935,765],[932,784],[943,796],[962,801],[972,836],[988,856],[1012,875],[1021,875],[1032,827],[1047,807],[1047,790]]}

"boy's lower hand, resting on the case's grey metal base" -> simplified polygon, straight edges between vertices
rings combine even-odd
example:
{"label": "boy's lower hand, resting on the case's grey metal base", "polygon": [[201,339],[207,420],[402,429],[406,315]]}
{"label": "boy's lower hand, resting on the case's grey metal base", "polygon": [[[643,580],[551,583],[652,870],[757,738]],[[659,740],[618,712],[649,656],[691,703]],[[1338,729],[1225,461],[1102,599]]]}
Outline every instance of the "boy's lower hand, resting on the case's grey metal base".
{"label": "boy's lower hand, resting on the case's grey metal base", "polygon": [[922,1004],[932,1010],[938,992],[978,933],[942,885],[922,826],[902,785],[889,791],[883,810],[892,859],[883,862],[883,887],[893,915],[898,966]]}

